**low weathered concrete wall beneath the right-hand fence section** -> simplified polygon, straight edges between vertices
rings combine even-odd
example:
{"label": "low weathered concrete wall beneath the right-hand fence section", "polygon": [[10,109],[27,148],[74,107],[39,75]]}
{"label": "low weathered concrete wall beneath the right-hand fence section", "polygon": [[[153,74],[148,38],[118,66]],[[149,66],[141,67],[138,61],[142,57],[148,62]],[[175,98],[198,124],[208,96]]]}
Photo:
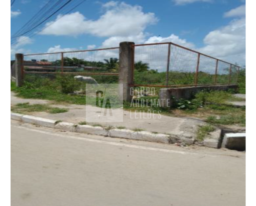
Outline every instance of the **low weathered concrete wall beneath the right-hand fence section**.
{"label": "low weathered concrete wall beneath the right-hand fence section", "polygon": [[229,89],[234,89],[237,91],[238,85],[210,85],[160,89],[161,106],[172,107],[175,99],[191,99],[196,93],[203,90],[228,91]]}

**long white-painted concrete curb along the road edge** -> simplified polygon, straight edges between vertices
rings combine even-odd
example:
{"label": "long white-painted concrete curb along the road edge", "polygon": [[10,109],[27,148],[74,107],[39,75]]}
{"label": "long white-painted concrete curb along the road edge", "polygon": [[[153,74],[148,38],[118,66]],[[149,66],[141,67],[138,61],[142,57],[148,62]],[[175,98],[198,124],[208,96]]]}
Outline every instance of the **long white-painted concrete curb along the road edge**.
{"label": "long white-painted concrete curb along the road edge", "polygon": [[[166,134],[159,134],[159,133],[152,133],[152,132],[135,132],[129,129],[105,129],[100,126],[90,126],[90,125],[77,125],[68,122],[58,122],[50,119],[39,118],[30,115],[22,115],[18,113],[11,113],[11,119],[22,121],[25,123],[36,124],[39,126],[45,126],[55,129],[60,129],[63,131],[69,132],[78,132],[78,133],[85,133],[90,135],[102,135],[105,137],[118,137],[118,138],[126,138],[131,140],[141,140],[141,141],[148,141],[148,142],[156,142],[156,143],[186,143],[186,144],[193,144],[194,140],[189,138],[179,138],[173,137],[171,135]],[[214,138],[206,139],[204,141],[204,146],[212,147],[212,148],[219,148],[220,140],[220,130],[215,132]]]}

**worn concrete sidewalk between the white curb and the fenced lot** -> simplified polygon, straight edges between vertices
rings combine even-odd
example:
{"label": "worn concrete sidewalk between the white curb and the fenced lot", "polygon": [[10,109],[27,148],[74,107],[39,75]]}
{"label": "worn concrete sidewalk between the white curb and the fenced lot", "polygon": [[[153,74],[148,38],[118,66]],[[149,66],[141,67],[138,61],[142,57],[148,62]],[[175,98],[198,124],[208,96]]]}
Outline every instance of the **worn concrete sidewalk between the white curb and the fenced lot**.
{"label": "worn concrete sidewalk between the white curb and the fenced lot", "polygon": [[[50,104],[50,101],[37,100],[37,99],[20,99],[17,98],[14,93],[11,93],[11,105],[15,105],[18,103],[26,103],[30,104]],[[61,107],[69,109],[66,113],[59,114],[50,114],[50,113],[31,113],[30,115],[34,115],[41,118],[47,118],[55,121],[64,121],[73,124],[79,124],[85,120],[85,115],[94,115],[96,116],[99,113],[98,107],[89,106],[85,110],[85,105],[58,105],[52,104],[54,107]],[[121,109],[112,109],[113,113],[118,113]],[[193,143],[198,131],[198,126],[204,125],[203,121],[189,119],[189,118],[177,118],[171,116],[161,115],[162,118],[137,118],[134,119],[134,113],[130,113],[129,111],[124,112],[124,122],[118,123],[100,123],[102,126],[114,126],[114,127],[125,127],[126,129],[141,129],[147,132],[157,132],[161,134],[168,134],[173,137],[177,137],[178,139],[185,139],[185,143]],[[139,116],[139,115],[138,115]],[[99,124],[98,122],[90,122],[90,125]],[[214,142],[216,142],[220,137],[220,134],[216,133],[207,138],[214,138]],[[212,141],[212,140],[210,140]],[[216,143],[215,143],[216,144]]]}

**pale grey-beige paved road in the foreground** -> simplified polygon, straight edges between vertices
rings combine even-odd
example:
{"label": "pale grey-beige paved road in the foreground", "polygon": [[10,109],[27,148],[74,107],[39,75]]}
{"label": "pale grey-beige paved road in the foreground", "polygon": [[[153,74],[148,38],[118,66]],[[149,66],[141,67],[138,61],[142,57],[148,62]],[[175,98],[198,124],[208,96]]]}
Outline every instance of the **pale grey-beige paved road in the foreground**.
{"label": "pale grey-beige paved road in the foreground", "polygon": [[243,206],[245,153],[11,121],[11,206]]}

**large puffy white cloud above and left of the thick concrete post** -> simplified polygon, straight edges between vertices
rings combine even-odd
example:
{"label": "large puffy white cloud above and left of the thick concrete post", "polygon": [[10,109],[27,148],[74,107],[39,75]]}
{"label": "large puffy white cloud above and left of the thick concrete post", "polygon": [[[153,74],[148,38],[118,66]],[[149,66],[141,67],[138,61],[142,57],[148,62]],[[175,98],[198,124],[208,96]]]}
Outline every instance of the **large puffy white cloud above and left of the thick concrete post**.
{"label": "large puffy white cloud above and left of the thick concrete post", "polygon": [[80,12],[58,16],[57,22],[46,24],[41,34],[77,36],[91,34],[100,37],[138,35],[148,25],[157,22],[153,13],[144,13],[142,7],[110,1],[103,5],[105,13],[97,20],[86,19]]}

